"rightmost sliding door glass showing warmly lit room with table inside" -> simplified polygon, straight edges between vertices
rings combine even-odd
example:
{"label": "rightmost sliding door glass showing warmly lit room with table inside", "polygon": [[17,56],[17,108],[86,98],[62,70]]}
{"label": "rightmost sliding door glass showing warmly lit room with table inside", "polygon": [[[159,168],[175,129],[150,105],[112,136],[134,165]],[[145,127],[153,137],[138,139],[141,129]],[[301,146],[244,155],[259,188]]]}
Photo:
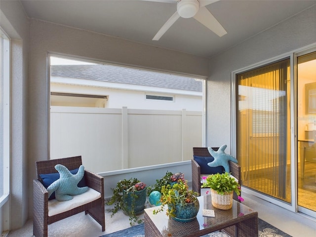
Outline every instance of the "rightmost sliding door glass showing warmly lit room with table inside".
{"label": "rightmost sliding door glass showing warmly lit room with table inside", "polygon": [[316,52],[297,62],[297,203],[308,213],[316,211]]}

